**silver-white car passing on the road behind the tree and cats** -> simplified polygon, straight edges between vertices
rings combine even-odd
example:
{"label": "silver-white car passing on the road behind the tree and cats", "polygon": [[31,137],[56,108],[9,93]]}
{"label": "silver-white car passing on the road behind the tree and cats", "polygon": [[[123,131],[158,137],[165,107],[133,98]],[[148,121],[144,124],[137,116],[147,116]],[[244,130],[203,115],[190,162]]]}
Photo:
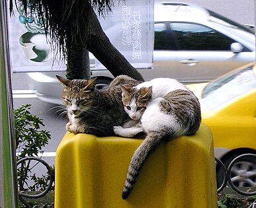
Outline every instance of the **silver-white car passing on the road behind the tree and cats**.
{"label": "silver-white car passing on the road behind the tree and cats", "polygon": [[[211,81],[228,71],[255,61],[255,34],[221,15],[187,3],[155,3],[153,68],[138,69],[146,81],[170,77],[182,83]],[[93,55],[90,56],[93,62]],[[60,103],[61,86],[55,75],[28,73],[38,98]],[[93,70],[97,87],[114,78],[107,69]]]}

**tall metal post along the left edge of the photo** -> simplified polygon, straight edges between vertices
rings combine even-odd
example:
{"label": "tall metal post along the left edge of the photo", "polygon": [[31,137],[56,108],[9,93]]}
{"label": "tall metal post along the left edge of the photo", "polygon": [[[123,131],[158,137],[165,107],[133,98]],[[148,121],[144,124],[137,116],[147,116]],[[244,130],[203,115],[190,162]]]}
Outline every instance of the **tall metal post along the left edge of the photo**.
{"label": "tall metal post along the left edge of the photo", "polygon": [[0,1],[0,207],[18,207],[7,2]]}

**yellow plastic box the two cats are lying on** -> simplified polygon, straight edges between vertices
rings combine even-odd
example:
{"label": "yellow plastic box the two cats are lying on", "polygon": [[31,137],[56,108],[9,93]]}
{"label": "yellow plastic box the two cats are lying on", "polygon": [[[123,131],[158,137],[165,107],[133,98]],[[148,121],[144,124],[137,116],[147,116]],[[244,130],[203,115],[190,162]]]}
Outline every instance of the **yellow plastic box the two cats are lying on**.
{"label": "yellow plastic box the two cats are lying on", "polygon": [[142,139],[67,132],[56,152],[56,208],[217,207],[212,137],[178,137],[152,153],[128,199],[121,197],[130,158]]}

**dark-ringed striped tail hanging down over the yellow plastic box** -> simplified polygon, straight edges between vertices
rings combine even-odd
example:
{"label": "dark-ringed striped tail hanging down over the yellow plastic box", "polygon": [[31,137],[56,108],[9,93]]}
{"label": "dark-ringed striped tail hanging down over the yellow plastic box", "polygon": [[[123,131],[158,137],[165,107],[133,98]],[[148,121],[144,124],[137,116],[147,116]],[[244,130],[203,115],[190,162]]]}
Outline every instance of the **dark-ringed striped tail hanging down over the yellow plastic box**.
{"label": "dark-ringed striped tail hanging down over the yellow plastic box", "polygon": [[[166,134],[164,133],[164,135]],[[122,199],[126,199],[128,197],[144,162],[148,158],[149,154],[159,146],[161,141],[163,141],[163,135],[159,132],[150,132],[138,149],[136,149],[128,166],[126,181],[122,190]]]}

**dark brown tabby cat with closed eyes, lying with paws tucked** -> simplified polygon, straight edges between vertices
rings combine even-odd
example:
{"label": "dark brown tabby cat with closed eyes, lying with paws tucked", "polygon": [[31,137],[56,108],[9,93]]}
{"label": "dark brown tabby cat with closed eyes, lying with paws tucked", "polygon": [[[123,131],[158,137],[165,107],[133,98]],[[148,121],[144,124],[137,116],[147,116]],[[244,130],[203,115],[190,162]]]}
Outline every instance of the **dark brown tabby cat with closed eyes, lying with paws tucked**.
{"label": "dark brown tabby cat with closed eyes, lying with paws tucked", "polygon": [[114,134],[114,125],[129,122],[129,125],[134,125],[122,106],[120,84],[132,87],[141,82],[121,75],[110,83],[110,87],[97,90],[96,79],[71,81],[58,75],[56,77],[63,87],[62,99],[67,109],[67,131],[108,136]]}

